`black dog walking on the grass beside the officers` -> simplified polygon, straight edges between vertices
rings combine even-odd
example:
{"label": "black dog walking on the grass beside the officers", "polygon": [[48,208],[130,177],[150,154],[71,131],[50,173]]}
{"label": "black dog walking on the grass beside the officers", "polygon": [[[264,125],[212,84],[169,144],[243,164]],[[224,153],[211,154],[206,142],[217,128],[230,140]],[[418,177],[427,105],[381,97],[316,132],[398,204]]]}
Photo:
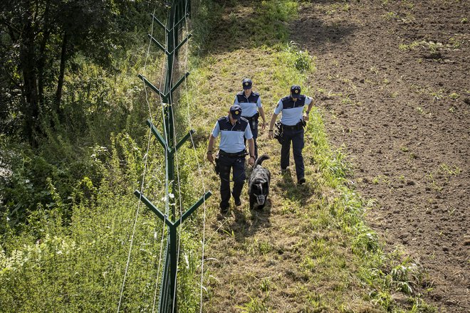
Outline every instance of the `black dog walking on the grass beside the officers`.
{"label": "black dog walking on the grass beside the officers", "polygon": [[253,209],[254,204],[258,204],[258,209],[261,210],[266,204],[266,199],[269,194],[269,182],[271,181],[271,173],[268,169],[261,166],[261,163],[269,159],[266,154],[256,159],[248,181],[248,194],[250,196],[250,210]]}

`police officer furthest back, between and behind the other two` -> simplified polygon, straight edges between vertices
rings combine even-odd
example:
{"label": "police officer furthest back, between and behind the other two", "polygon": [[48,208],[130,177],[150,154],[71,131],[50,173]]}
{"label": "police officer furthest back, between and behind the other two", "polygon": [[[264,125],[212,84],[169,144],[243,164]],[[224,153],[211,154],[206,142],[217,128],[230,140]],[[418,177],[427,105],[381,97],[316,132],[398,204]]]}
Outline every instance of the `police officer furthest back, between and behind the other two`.
{"label": "police officer furthest back, between and behind the other two", "polygon": [[264,110],[261,106],[261,97],[258,92],[253,92],[251,87],[253,82],[249,78],[245,78],[242,82],[243,90],[238,92],[235,96],[235,105],[241,107],[241,116],[245,117],[250,124],[251,134],[253,134],[253,140],[255,145],[255,157],[258,158],[258,144],[256,144],[256,138],[258,138],[258,117],[261,115],[263,124],[261,129],[264,130],[268,123],[264,117]]}

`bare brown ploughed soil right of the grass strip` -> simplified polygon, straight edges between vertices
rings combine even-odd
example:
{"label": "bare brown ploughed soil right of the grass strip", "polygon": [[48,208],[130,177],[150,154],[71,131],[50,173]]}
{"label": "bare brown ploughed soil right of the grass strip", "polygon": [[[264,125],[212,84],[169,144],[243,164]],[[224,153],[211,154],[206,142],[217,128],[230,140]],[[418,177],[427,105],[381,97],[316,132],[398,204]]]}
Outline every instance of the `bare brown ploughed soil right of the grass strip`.
{"label": "bare brown ploughed soil right of the grass strip", "polygon": [[470,312],[470,3],[311,1],[292,38],[370,226],[429,272],[427,302]]}

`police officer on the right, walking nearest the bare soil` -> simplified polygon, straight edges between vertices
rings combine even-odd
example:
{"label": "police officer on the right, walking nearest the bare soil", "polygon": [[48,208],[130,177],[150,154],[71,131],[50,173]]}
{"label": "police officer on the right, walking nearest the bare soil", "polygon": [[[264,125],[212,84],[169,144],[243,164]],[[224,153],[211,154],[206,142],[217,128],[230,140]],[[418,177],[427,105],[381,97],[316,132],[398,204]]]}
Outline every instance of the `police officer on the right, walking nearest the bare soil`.
{"label": "police officer on the right, walking nearest the bare soil", "polygon": [[[305,105],[308,105],[308,108],[304,113],[303,108]],[[268,138],[272,139],[273,127],[276,122],[276,118],[279,113],[282,112],[281,127],[283,129],[283,144],[281,146],[281,172],[285,172],[287,166],[289,166],[289,150],[291,149],[292,142],[293,157],[296,163],[297,182],[300,185],[305,183],[305,169],[302,157],[302,149],[304,146],[303,126],[304,121],[308,121],[308,114],[312,107],[312,98],[301,95],[301,86],[292,85],[291,95],[279,100],[276,109],[274,109],[271,123],[269,125]]]}

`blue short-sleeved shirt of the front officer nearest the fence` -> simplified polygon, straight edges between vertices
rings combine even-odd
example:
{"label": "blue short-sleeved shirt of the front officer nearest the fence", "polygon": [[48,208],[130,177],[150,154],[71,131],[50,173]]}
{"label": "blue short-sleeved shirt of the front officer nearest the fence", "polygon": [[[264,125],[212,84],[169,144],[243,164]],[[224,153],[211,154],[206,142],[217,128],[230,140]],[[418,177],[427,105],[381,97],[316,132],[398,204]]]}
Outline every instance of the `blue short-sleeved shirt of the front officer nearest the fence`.
{"label": "blue short-sleeved shirt of the front officer nearest the fence", "polygon": [[234,125],[231,124],[229,116],[221,117],[217,120],[212,136],[218,137],[220,134],[219,149],[227,153],[237,153],[245,149],[244,137],[253,138],[249,122],[241,117]]}

